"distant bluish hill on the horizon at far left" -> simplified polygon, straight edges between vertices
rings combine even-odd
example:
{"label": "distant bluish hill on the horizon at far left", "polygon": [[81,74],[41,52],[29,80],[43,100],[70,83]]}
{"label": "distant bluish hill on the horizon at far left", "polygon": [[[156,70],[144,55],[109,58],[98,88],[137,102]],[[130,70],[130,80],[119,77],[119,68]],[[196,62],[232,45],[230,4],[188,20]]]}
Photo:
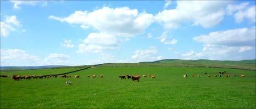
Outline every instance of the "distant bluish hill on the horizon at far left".
{"label": "distant bluish hill on the horizon at far left", "polygon": [[0,66],[1,70],[27,70],[27,69],[44,69],[44,68],[58,68],[65,65],[46,65],[46,66]]}

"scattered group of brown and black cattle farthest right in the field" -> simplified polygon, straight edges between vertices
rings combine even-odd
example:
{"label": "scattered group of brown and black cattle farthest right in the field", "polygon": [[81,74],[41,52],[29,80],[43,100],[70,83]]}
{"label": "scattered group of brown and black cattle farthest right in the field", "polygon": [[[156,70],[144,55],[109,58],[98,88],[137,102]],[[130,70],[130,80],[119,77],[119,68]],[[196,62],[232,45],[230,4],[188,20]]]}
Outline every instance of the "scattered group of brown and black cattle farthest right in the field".
{"label": "scattered group of brown and black cattle farthest right in the field", "polygon": [[[231,75],[230,75],[230,74],[227,74],[227,73],[226,73],[226,75],[225,75],[225,73],[226,73],[226,71],[223,71],[223,72],[219,71],[219,74],[216,74],[214,77],[221,77],[222,75],[223,75],[223,76],[226,76],[226,78],[231,77]],[[204,72],[204,75],[207,75],[207,72]],[[194,75],[193,75],[193,74],[192,74],[191,76],[192,76],[192,77],[194,77]],[[236,76],[236,74],[233,74],[233,76],[234,76],[234,77],[237,77],[237,76]],[[184,77],[184,78],[187,78],[187,77],[188,77],[188,75],[187,75],[187,74],[185,74],[185,75],[183,75],[183,77]],[[202,75],[197,75],[197,77],[199,77],[199,78],[200,78],[200,77],[202,77]],[[211,75],[207,75],[207,77],[209,77],[209,78],[210,78],[210,77],[211,77]],[[246,75],[241,75],[241,77],[246,77]]]}

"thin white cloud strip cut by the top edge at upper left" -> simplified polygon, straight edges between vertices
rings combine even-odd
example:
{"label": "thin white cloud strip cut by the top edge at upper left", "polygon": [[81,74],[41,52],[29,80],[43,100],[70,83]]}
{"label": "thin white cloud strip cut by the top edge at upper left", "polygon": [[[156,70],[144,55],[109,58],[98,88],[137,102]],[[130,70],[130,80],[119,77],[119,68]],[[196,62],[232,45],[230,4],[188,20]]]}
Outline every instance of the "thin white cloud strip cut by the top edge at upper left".
{"label": "thin white cloud strip cut by the top edge at upper left", "polygon": [[40,4],[42,7],[46,7],[47,6],[47,1],[10,1],[13,3],[13,7],[15,9],[20,9],[19,5],[31,5],[31,6],[35,6]]}

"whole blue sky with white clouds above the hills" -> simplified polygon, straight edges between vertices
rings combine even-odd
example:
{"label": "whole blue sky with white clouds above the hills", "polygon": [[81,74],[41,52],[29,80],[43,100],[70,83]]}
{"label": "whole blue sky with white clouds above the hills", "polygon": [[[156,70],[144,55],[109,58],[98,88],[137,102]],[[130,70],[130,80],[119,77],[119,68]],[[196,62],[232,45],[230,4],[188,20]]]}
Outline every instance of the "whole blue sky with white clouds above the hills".
{"label": "whole blue sky with white clouds above the hills", "polygon": [[255,59],[255,1],[0,1],[1,66]]}

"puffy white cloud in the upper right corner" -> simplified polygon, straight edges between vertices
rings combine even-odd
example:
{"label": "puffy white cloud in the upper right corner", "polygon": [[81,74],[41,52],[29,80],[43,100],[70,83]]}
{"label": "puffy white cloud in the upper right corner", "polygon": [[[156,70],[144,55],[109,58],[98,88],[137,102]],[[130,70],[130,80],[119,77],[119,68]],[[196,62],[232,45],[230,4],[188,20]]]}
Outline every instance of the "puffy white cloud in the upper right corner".
{"label": "puffy white cloud in the upper right corner", "polygon": [[227,14],[233,15],[237,23],[241,23],[244,19],[255,22],[255,5],[249,6],[249,3],[229,4],[227,5]]}

